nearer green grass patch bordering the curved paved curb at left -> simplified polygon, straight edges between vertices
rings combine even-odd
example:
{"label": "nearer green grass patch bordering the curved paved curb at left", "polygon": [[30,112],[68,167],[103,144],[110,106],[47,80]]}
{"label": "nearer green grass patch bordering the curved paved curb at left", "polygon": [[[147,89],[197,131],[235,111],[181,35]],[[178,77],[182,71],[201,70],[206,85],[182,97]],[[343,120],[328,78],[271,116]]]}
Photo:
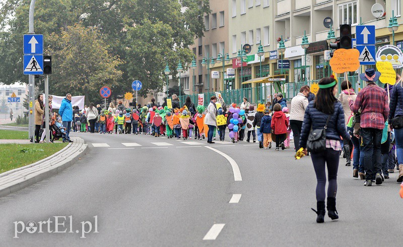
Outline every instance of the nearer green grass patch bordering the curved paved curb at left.
{"label": "nearer green grass patch bordering the curved paved curb at left", "polygon": [[61,150],[68,143],[0,144],[0,173],[35,163]]}

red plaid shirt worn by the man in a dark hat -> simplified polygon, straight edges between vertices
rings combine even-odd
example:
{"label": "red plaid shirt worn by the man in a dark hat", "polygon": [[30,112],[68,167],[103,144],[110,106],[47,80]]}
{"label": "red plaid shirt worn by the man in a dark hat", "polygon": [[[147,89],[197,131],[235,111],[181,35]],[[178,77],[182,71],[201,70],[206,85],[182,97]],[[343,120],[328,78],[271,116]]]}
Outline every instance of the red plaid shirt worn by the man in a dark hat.
{"label": "red plaid shirt worn by the man in a dark hat", "polygon": [[361,108],[361,128],[383,130],[389,115],[386,91],[375,83],[368,83],[357,95],[356,101],[349,101],[351,111],[357,113]]}

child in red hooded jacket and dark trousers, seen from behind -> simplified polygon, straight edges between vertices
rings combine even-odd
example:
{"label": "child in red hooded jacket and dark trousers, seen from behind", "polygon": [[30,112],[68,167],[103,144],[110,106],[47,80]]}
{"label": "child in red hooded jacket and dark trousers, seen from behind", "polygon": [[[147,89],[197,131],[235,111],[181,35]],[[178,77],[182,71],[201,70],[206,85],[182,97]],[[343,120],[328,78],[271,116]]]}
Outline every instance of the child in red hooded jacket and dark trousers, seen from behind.
{"label": "child in red hooded jacket and dark trousers, seen from behind", "polygon": [[281,104],[277,103],[273,106],[273,116],[272,116],[272,133],[276,137],[276,151],[281,149],[284,150],[284,140],[287,139],[287,129],[289,127],[286,114],[281,111]]}

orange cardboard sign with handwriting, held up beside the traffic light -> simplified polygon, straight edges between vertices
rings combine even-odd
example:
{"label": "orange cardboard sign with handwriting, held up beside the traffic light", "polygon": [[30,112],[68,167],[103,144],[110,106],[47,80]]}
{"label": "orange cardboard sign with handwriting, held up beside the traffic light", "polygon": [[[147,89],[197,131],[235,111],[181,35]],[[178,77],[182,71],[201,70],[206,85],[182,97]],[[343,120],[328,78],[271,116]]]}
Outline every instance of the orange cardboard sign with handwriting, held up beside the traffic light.
{"label": "orange cardboard sign with handwriting, held up beside the traffic light", "polygon": [[335,73],[354,72],[360,68],[360,52],[357,49],[337,49],[330,59],[331,70]]}

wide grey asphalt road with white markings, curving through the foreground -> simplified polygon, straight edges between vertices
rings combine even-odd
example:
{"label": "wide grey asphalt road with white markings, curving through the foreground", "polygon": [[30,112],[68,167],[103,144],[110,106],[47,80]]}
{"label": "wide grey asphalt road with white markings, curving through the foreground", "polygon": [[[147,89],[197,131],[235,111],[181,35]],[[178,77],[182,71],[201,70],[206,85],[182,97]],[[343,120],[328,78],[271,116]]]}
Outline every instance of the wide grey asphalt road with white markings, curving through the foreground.
{"label": "wide grey asphalt road with white markings, curving through the foreground", "polygon": [[[72,135],[89,143],[82,160],[0,198],[2,246],[396,246],[403,241],[397,173],[381,186],[364,187],[341,159],[340,219],[326,216],[317,224],[310,209],[316,207],[312,162],[294,160],[291,149],[218,141],[209,145],[212,150],[206,140]],[[239,167],[241,180],[235,181],[233,167]],[[51,218],[54,231],[54,216],[72,216],[72,224],[66,218],[59,227],[69,231],[71,225],[72,233],[26,230],[13,238],[13,222]],[[93,224],[86,238],[80,238],[82,221]]]}

